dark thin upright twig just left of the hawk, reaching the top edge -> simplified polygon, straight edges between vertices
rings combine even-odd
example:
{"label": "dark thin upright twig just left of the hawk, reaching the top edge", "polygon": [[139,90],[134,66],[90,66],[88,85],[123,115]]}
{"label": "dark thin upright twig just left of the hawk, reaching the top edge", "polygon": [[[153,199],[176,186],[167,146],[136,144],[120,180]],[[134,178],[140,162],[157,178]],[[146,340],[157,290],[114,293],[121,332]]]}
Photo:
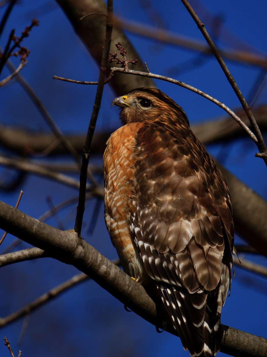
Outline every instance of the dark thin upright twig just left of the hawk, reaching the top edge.
{"label": "dark thin upright twig just left of the hawk, reaching the top edge", "polygon": [[86,193],[86,175],[87,167],[89,163],[90,157],[90,147],[91,142],[94,135],[96,120],[98,117],[98,112],[100,109],[104,82],[105,82],[105,75],[106,75],[106,68],[107,68],[107,59],[109,55],[109,48],[111,42],[111,34],[112,34],[112,12],[113,12],[113,1],[108,0],[107,5],[107,17],[106,17],[106,38],[105,38],[105,45],[100,65],[100,72],[99,72],[99,79],[98,79],[98,87],[96,89],[95,95],[95,102],[93,107],[93,112],[90,119],[89,128],[87,131],[87,136],[84,143],[84,154],[82,160],[82,169],[80,172],[80,192],[79,192],[79,203],[77,207],[77,216],[75,220],[74,231],[80,235],[82,230],[82,222],[83,222],[83,213],[84,213],[84,206],[85,206],[85,193]]}

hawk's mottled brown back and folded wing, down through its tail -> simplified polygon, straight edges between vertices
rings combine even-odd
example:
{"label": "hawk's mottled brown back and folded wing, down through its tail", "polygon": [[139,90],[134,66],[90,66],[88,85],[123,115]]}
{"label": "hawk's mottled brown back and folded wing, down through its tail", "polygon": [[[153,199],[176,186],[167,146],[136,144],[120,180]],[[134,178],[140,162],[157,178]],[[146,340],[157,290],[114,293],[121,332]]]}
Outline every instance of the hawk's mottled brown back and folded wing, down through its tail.
{"label": "hawk's mottled brown back and folded wing, down through its tail", "polygon": [[136,148],[132,224],[145,269],[183,346],[195,355],[196,348],[216,350],[203,335],[218,329],[231,279],[234,230],[226,183],[189,128],[182,135],[142,126]]}

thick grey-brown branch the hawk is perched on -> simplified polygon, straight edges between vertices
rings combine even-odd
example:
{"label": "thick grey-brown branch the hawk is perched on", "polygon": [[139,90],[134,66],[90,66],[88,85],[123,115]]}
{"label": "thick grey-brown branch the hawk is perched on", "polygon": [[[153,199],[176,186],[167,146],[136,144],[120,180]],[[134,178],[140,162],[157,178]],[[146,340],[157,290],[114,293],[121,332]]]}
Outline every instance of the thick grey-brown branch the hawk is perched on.
{"label": "thick grey-brown branch the hawk is perched on", "polygon": [[[49,252],[53,258],[77,267],[132,311],[156,324],[156,307],[144,288],[79,238],[73,230],[60,231],[1,201],[0,227]],[[221,332],[222,352],[236,357],[266,356],[267,343],[264,338],[225,325],[221,325]]]}

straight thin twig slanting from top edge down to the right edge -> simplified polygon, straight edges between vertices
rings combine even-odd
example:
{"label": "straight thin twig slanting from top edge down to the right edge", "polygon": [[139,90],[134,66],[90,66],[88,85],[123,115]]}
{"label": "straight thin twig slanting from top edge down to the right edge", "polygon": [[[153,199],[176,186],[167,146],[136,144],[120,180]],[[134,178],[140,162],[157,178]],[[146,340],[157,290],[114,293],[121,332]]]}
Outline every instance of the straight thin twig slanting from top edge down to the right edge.
{"label": "straight thin twig slanting from top edge down to the right edge", "polygon": [[242,95],[239,87],[236,84],[236,81],[234,79],[234,77],[231,75],[229,69],[227,68],[223,58],[221,57],[221,54],[219,52],[219,50],[217,49],[217,47],[215,46],[214,42],[212,41],[210,35],[208,34],[208,31],[205,29],[205,25],[202,21],[200,21],[199,17],[197,16],[197,14],[195,13],[195,11],[193,10],[192,6],[189,4],[189,2],[187,0],[181,0],[182,3],[184,4],[184,6],[186,7],[186,9],[188,10],[189,14],[192,16],[193,20],[195,21],[195,23],[197,24],[199,30],[201,31],[201,33],[203,34],[205,40],[207,41],[208,45],[210,46],[211,51],[213,52],[215,58],[217,59],[217,61],[219,62],[227,80],[230,82],[232,89],[234,90],[237,98],[239,99],[242,107],[244,108],[244,111],[248,117],[248,119],[250,120],[251,126],[253,128],[253,131],[257,137],[257,146],[258,149],[260,151],[260,153],[256,153],[255,156],[257,157],[261,157],[266,166],[267,166],[267,147],[265,145],[265,142],[263,140],[262,134],[260,129],[258,128],[257,122],[250,110],[249,105],[247,104],[244,96]]}

